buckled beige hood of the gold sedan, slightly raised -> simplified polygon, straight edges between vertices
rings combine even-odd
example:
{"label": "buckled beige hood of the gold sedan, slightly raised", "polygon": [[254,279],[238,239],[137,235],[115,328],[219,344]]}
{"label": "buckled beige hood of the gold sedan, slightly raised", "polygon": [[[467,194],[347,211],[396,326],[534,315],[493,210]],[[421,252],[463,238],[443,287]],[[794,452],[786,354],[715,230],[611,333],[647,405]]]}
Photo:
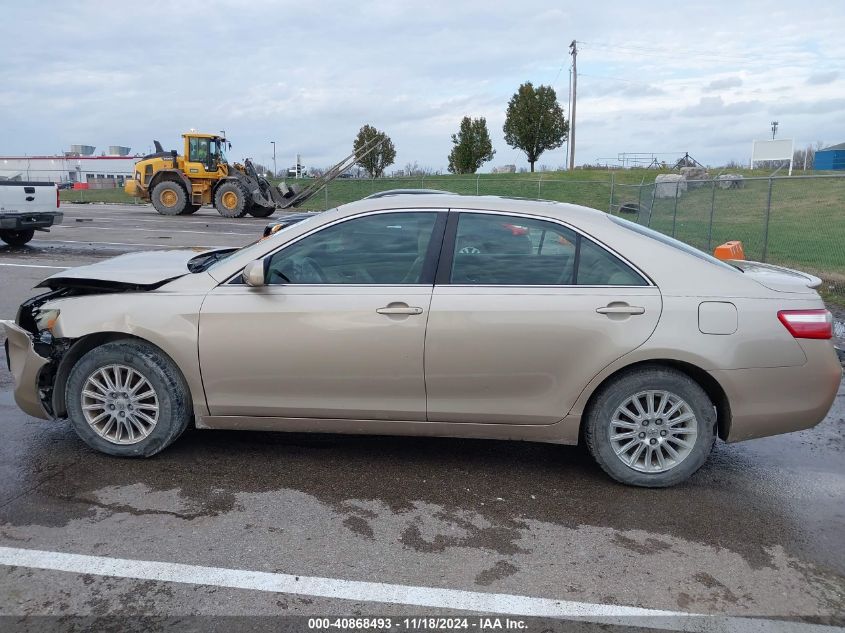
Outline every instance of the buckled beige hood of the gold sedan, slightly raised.
{"label": "buckled beige hood of the gold sedan, slightly raised", "polygon": [[69,268],[47,277],[39,288],[92,290],[151,290],[187,275],[188,262],[209,249],[127,253],[111,259]]}

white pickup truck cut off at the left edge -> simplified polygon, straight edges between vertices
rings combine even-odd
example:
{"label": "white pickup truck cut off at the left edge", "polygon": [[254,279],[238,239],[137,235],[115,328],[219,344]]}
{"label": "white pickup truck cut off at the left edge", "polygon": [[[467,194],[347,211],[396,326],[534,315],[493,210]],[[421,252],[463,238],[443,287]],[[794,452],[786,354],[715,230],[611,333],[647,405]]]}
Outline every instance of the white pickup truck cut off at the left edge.
{"label": "white pickup truck cut off at the left edge", "polygon": [[55,183],[0,180],[0,240],[9,246],[23,246],[62,218]]}

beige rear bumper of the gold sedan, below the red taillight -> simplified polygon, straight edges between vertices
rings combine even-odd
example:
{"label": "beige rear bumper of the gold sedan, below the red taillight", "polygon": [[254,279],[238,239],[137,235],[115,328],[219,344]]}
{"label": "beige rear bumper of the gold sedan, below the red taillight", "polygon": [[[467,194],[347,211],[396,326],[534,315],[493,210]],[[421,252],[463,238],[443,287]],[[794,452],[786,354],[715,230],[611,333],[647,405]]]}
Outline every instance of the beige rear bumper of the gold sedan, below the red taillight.
{"label": "beige rear bumper of the gold sedan, below the red taillight", "polygon": [[802,340],[807,362],[800,367],[711,371],[731,407],[727,440],[801,431],[830,411],[842,380],[842,365],[830,341]]}

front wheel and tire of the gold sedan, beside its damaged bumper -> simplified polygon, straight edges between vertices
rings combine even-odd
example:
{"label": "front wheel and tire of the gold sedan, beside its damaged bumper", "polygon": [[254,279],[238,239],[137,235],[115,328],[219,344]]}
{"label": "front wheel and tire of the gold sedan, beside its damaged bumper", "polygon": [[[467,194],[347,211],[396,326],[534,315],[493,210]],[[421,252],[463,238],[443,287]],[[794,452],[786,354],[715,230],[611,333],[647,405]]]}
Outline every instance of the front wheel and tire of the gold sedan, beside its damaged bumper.
{"label": "front wheel and tire of the gold sedan, beside its damaged bumper", "polygon": [[136,340],[106,343],[82,356],[70,371],[65,402],[82,441],[117,457],[155,455],[182,434],[193,415],[179,368]]}

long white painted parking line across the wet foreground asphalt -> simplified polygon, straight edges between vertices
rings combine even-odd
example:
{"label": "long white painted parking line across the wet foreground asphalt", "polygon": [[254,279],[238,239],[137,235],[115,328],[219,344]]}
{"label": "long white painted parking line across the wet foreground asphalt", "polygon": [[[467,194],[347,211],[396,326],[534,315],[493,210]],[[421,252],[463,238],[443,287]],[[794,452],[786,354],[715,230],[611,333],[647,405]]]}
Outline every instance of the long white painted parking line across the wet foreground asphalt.
{"label": "long white painted parking line across the wet foreground asphalt", "polygon": [[356,602],[473,611],[484,614],[579,618],[611,624],[624,624],[626,622],[630,624],[630,618],[638,618],[636,626],[671,630],[680,628],[679,623],[683,626],[684,631],[829,632],[832,630],[832,627],[779,620],[711,617],[678,611],[534,598],[514,594],[394,585],[339,578],[294,576],[223,567],[67,554],[17,547],[0,547],[0,565],[93,574],[110,578],[131,578],[248,589]]}

